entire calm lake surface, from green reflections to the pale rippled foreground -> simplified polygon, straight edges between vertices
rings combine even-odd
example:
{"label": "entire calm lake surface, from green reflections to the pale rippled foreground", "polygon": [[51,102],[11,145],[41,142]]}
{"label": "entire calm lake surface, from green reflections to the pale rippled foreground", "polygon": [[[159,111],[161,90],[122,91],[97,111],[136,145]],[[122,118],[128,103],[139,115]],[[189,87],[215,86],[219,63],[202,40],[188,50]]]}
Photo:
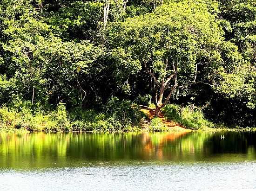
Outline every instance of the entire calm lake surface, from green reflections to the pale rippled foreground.
{"label": "entire calm lake surface, from green reflections to the pale rippled foreground", "polygon": [[256,133],[0,134],[1,191],[236,189],[256,189]]}

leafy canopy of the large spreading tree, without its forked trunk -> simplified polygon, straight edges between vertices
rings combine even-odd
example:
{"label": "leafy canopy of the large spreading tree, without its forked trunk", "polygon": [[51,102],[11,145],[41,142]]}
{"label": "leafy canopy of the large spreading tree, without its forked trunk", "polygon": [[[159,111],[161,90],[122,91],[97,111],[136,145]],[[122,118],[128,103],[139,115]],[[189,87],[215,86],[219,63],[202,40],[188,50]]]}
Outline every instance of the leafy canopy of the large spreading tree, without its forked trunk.
{"label": "leafy canopy of the large spreading tree, without its forked trunk", "polygon": [[[170,63],[174,61],[181,75],[187,73],[183,75],[187,77],[185,83],[192,80],[196,62],[218,48],[222,34],[205,4],[188,1],[157,7],[154,13],[113,23],[108,36],[112,46],[122,47],[128,54],[132,52],[141,64],[147,62],[159,78],[170,74]],[[166,62],[169,64],[164,69]]]}

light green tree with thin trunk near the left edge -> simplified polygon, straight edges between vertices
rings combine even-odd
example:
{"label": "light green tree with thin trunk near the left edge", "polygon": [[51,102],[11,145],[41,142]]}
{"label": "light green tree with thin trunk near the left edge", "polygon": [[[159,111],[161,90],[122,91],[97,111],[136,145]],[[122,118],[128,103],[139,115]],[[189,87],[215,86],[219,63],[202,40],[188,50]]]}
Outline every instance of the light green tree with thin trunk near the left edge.
{"label": "light green tree with thin trunk near the left edge", "polygon": [[[36,13],[25,13],[19,20],[7,20],[2,44],[3,51],[11,59],[5,60],[12,76],[20,83],[23,92],[31,92],[34,103],[35,91],[44,83],[44,45],[51,36],[49,26],[34,18]],[[11,71],[12,70],[12,71]]]}

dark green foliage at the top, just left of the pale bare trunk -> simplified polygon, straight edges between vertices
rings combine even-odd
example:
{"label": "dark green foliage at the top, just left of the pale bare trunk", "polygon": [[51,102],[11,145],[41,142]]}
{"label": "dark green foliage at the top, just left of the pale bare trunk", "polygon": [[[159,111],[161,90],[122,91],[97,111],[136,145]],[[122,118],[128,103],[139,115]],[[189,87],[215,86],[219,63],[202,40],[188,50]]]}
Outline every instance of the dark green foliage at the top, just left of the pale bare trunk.
{"label": "dark green foliage at the top, just left of the pale bare trunk", "polygon": [[102,6],[100,2],[76,1],[48,15],[46,21],[54,34],[61,38],[93,40],[98,35],[98,25],[103,18]]}

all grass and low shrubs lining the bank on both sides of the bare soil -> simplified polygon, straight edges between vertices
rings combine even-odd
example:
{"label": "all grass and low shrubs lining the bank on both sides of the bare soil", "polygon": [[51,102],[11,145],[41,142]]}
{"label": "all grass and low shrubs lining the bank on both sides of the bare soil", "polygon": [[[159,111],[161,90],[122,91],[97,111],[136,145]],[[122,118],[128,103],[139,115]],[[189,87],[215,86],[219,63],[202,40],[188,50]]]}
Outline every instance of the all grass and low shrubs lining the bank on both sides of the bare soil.
{"label": "all grass and low shrubs lining the bank on both sides of the bare soil", "polygon": [[[113,108],[112,105],[110,108]],[[256,128],[231,128],[223,124],[213,124],[204,118],[202,111],[191,111],[179,105],[166,105],[162,112],[167,119],[193,130],[256,131]],[[141,131],[140,121],[146,118],[145,114],[139,112],[139,108],[131,106],[128,102],[115,104],[114,110],[104,112],[81,108],[67,111],[62,103],[58,104],[56,109],[45,109],[23,102],[14,107],[0,108],[0,131],[136,132]],[[168,128],[160,118],[154,118],[150,121],[148,130],[162,132],[168,131]]]}

